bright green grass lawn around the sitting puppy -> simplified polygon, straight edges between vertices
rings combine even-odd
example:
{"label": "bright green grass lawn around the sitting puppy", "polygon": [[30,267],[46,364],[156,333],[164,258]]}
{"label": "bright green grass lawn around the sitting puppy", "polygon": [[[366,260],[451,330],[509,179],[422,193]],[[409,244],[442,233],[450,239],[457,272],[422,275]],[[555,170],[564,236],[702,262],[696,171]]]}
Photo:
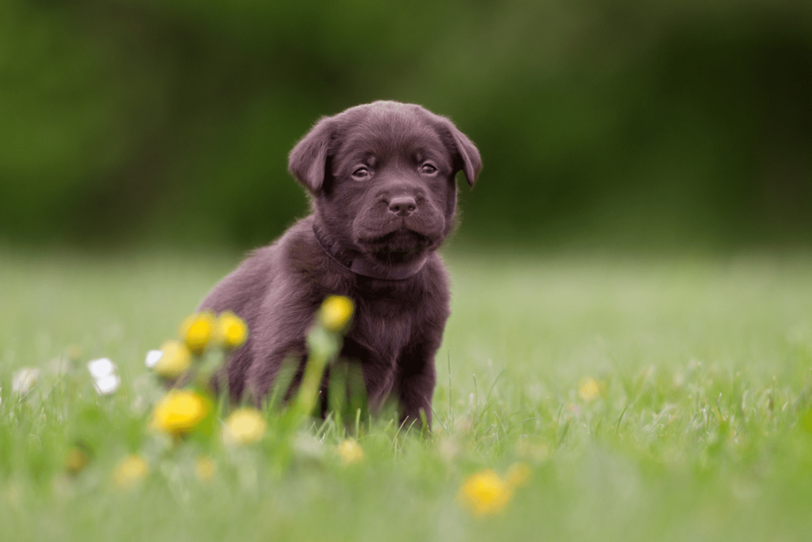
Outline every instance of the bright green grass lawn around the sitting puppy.
{"label": "bright green grass lawn around the sitting puppy", "polygon": [[[145,428],[159,393],[145,352],[234,258],[0,259],[0,540],[808,539],[806,256],[452,254],[434,435],[380,420],[346,467],[335,427],[291,437],[272,417],[236,449],[167,448]],[[80,359],[60,363],[71,345]],[[84,369],[101,356],[123,378],[112,397]],[[21,367],[42,371],[23,398]],[[598,398],[579,394],[585,378]],[[68,475],[77,440],[92,458]],[[132,453],[150,474],[123,490],[111,473]],[[502,514],[460,505],[469,475],[517,461],[532,478]]]}

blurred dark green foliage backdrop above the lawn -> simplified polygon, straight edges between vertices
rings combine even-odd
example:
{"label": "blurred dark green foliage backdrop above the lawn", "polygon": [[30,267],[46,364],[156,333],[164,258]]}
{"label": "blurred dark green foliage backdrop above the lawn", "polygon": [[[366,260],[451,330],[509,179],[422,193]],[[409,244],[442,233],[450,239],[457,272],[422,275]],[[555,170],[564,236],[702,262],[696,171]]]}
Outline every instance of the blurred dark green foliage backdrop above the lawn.
{"label": "blurred dark green foliage backdrop above the lawn", "polygon": [[6,0],[0,242],[267,243],[376,99],[479,146],[469,243],[812,239],[812,2]]}

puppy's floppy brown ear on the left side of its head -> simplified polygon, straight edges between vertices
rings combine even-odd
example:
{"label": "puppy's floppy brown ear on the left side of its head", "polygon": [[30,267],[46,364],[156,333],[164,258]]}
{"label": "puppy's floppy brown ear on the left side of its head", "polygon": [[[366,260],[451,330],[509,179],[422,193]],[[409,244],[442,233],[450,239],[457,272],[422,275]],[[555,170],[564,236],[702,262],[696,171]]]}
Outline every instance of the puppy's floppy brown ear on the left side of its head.
{"label": "puppy's floppy brown ear on the left side of its head", "polygon": [[334,120],[322,118],[287,156],[287,170],[313,194],[322,187],[329,173],[325,166],[335,137]]}

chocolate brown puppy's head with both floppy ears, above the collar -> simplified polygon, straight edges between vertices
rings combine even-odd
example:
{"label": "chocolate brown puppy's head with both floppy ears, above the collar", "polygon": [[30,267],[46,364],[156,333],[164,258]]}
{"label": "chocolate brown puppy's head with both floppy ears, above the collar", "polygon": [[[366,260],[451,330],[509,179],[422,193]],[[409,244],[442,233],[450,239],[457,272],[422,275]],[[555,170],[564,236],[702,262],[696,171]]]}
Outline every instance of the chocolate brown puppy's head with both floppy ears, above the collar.
{"label": "chocolate brown puppy's head with both floppy ears, above the collar", "polygon": [[322,118],[290,154],[319,226],[388,265],[434,250],[451,230],[456,173],[473,187],[482,160],[450,120],[420,105],[376,101]]}

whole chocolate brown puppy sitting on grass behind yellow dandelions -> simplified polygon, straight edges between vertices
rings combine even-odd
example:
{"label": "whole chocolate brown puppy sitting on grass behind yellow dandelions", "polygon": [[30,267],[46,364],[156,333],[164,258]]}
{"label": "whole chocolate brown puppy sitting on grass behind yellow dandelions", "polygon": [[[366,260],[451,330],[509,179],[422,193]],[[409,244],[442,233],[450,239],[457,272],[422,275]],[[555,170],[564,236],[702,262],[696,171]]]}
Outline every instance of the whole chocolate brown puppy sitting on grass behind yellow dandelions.
{"label": "whole chocolate brown puppy sitting on grass behind yellow dandelions", "polygon": [[263,398],[326,295],[356,303],[341,355],[361,362],[370,407],[400,402],[403,420],[431,423],[434,353],[449,314],[435,252],[451,231],[455,175],[473,186],[477,148],[420,105],[376,101],[322,118],[290,154],[313,214],[254,251],[202,309],[230,309],[250,330],[228,362],[232,396]]}

